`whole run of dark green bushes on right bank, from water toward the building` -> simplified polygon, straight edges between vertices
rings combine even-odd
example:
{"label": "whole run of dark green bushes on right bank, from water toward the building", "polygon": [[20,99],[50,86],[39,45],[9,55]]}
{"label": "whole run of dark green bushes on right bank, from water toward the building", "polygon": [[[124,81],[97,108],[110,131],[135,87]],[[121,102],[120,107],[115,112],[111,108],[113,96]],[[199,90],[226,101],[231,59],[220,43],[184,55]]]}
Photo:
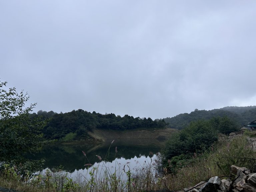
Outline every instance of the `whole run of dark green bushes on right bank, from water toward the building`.
{"label": "whole run of dark green bushes on right bank, from water toward the building", "polygon": [[166,142],[162,149],[163,167],[175,173],[177,169],[189,165],[196,155],[213,150],[218,133],[229,134],[237,130],[234,121],[227,116],[192,121]]}

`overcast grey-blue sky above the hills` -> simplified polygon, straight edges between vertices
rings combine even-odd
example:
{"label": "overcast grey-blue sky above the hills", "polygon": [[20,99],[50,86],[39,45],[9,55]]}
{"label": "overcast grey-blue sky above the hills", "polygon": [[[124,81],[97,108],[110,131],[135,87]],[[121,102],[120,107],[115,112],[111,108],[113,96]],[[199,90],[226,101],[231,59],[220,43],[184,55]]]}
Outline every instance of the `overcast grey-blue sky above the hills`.
{"label": "overcast grey-blue sky above the hills", "polygon": [[39,110],[256,105],[256,1],[0,1],[0,80]]}

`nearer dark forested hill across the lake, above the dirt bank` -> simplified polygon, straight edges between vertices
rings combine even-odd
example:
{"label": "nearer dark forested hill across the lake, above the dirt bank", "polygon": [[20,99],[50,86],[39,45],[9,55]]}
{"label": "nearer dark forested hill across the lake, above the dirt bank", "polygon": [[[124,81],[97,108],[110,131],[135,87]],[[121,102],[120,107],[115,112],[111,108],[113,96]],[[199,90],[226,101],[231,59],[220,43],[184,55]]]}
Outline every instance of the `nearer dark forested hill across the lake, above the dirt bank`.
{"label": "nearer dark forested hill across the lake, above the dirt bank", "polygon": [[[43,133],[46,138],[60,139],[67,134],[72,137],[86,137],[87,132],[97,129],[131,130],[131,129],[162,129],[166,127],[164,120],[153,121],[151,118],[140,118],[125,115],[100,114],[95,111],[87,112],[82,109],[68,113],[54,113],[53,111],[38,111],[31,116],[41,116],[49,119]],[[73,134],[73,135],[72,135]]]}

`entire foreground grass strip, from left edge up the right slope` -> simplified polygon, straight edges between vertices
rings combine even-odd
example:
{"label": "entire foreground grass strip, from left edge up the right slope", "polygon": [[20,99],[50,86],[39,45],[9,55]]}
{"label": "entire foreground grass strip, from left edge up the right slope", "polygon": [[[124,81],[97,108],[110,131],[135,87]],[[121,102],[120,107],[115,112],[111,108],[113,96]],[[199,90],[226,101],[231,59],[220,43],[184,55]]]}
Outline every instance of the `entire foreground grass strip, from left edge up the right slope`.
{"label": "entire foreground grass strip, from left edge up the right slope", "polygon": [[[85,163],[87,163],[86,154],[84,153],[84,155]],[[100,156],[98,158],[99,161],[102,161]],[[229,176],[231,165],[252,170],[256,165],[253,143],[248,141],[245,136],[236,136],[232,140],[223,139],[215,144],[212,151],[197,154],[190,165],[178,169],[175,175],[164,176],[156,171],[156,168],[160,167],[160,159],[161,156],[158,155],[149,163],[138,164],[135,171],[132,171],[133,168],[129,163],[119,165],[116,162],[114,172],[111,172],[110,168],[102,161],[102,166],[99,164],[93,166],[85,175],[80,174],[76,178],[71,178],[70,174],[62,169],[54,171],[47,169],[37,175],[27,173],[21,179],[21,175],[15,171],[15,168],[5,165],[0,175],[0,186],[27,192],[139,192],[165,188],[177,191],[196,185],[200,181],[206,181],[216,175]],[[89,163],[86,166],[90,167]]]}

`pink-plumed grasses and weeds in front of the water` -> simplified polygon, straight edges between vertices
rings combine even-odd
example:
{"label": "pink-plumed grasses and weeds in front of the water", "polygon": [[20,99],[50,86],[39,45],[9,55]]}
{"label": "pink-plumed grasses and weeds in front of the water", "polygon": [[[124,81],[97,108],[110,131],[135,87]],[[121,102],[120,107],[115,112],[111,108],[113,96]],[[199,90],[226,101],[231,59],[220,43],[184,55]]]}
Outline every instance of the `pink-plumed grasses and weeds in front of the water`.
{"label": "pink-plumed grasses and weeds in front of the water", "polygon": [[[110,147],[113,142],[110,143]],[[112,168],[107,166],[110,147],[104,159],[96,155],[98,163],[94,166],[82,151],[87,171],[85,174],[78,174],[75,178],[59,167],[53,170],[45,169],[36,174],[27,172],[26,180],[22,180],[23,175],[19,175],[14,167],[5,164],[0,175],[0,186],[28,192],[137,192],[161,188],[159,174],[154,169],[158,161],[153,160],[153,154],[150,162],[145,161],[142,165],[138,162],[132,168],[129,162],[119,164],[116,160],[116,166],[112,171]],[[115,154],[117,154],[117,147]]]}

